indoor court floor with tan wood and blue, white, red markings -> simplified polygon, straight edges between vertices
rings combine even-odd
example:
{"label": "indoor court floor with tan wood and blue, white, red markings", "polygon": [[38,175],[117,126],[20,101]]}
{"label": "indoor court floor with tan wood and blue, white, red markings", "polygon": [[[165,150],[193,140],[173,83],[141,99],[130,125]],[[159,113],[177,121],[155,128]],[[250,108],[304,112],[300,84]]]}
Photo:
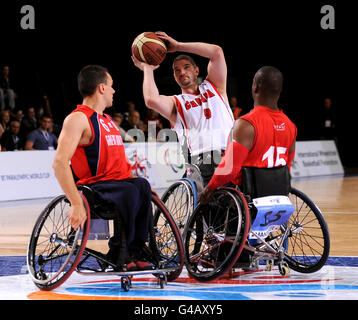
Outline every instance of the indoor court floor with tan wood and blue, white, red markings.
{"label": "indoor court floor with tan wood and blue, white, red markings", "polygon": [[40,291],[26,266],[26,249],[35,220],[50,199],[0,203],[0,300],[358,300],[358,176],[294,179],[292,185],[321,209],[331,240],[330,257],[318,272],[295,271],[281,276],[278,268],[245,272],[199,283],[180,277],[164,289],[152,276],[133,278],[124,292],[118,276],[73,273],[59,288]]}

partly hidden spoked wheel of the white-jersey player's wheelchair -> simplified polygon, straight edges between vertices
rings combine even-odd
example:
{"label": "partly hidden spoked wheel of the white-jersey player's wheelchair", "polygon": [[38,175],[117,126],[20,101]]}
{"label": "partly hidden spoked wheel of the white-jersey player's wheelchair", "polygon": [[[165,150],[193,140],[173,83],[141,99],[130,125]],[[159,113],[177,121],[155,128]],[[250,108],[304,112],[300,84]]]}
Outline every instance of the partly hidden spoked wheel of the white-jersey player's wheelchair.
{"label": "partly hidden spoked wheel of the white-jersey player's wheelchair", "polygon": [[186,180],[173,183],[163,194],[162,201],[175,219],[181,233],[189,215],[194,211],[194,190]]}

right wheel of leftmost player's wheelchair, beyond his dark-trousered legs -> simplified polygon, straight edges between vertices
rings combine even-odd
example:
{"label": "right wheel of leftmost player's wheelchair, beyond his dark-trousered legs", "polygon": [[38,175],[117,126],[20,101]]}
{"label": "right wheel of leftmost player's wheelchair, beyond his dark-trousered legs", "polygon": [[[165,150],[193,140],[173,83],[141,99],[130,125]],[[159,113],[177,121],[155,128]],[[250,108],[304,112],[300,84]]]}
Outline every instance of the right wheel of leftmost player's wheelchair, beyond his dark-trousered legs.
{"label": "right wheel of leftmost player's wheelchair, beyond his dark-trousered legs", "polygon": [[[168,281],[175,280],[184,266],[184,249],[180,231],[163,202],[152,196],[153,241],[161,269],[173,268]],[[153,244],[152,244],[153,246]]]}

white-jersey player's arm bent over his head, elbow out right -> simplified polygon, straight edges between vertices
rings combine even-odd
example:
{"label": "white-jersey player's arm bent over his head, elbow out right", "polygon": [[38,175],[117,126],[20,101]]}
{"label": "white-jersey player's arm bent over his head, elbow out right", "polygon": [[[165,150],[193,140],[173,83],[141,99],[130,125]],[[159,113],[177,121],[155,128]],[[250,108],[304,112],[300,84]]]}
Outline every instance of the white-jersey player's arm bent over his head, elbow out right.
{"label": "white-jersey player's arm bent over his head, elbow out right", "polygon": [[226,94],[227,66],[224,51],[220,46],[204,42],[179,42],[165,32],[156,32],[156,35],[165,41],[168,52],[181,51],[208,58],[210,61],[207,79],[228,100]]}

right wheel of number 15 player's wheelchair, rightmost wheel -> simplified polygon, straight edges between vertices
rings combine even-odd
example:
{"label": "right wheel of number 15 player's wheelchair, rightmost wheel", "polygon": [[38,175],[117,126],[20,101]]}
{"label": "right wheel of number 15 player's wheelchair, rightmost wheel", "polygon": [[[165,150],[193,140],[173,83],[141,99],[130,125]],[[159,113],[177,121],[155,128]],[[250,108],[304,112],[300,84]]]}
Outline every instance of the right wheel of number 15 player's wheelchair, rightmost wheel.
{"label": "right wheel of number 15 player's wheelchair, rightmost wheel", "polygon": [[301,191],[292,188],[289,194],[295,211],[281,232],[284,239],[285,261],[301,273],[316,272],[329,256],[330,239],[327,224],[320,209]]}

